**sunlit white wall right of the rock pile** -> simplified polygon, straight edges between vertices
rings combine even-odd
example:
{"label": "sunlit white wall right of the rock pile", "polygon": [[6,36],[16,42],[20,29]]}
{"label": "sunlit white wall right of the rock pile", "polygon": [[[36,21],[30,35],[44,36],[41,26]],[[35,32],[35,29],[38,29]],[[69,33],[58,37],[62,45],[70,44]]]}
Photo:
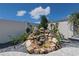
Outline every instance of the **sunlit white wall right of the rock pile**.
{"label": "sunlit white wall right of the rock pile", "polygon": [[73,32],[68,21],[59,22],[58,29],[59,32],[63,34],[66,39],[70,38],[73,35]]}

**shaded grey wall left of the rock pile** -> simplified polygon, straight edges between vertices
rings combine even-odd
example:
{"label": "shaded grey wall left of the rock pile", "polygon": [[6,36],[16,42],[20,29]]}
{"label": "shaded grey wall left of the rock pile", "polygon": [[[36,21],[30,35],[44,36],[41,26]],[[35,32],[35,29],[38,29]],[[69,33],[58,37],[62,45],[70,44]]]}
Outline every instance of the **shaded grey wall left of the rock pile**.
{"label": "shaded grey wall left of the rock pile", "polygon": [[20,35],[25,31],[25,24],[15,21],[0,20],[0,43],[11,41],[9,36]]}

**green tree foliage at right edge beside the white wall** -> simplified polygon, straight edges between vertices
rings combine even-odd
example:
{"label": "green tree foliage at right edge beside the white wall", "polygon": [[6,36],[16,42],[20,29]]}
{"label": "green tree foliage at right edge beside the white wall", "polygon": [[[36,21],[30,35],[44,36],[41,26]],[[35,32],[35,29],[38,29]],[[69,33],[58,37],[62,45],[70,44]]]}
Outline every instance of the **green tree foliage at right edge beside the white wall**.
{"label": "green tree foliage at right edge beside the white wall", "polygon": [[73,26],[73,34],[76,35],[79,33],[79,13],[72,13],[68,17],[69,23]]}

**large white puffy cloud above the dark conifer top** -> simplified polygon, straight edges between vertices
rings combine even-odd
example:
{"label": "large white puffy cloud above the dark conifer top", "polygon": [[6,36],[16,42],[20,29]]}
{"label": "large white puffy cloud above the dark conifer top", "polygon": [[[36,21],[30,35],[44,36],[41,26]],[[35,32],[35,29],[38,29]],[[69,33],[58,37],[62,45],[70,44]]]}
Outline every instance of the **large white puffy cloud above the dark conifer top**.
{"label": "large white puffy cloud above the dark conifer top", "polygon": [[45,9],[40,6],[40,7],[33,9],[30,12],[30,15],[34,19],[39,19],[41,15],[48,15],[48,14],[50,14],[50,7],[49,6],[46,7]]}

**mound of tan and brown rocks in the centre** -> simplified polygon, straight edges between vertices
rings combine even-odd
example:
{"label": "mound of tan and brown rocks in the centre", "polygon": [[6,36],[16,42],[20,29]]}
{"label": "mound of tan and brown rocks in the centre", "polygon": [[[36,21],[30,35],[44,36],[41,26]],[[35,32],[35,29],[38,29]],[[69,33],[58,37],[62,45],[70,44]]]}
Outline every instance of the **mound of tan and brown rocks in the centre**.
{"label": "mound of tan and brown rocks in the centre", "polygon": [[46,54],[60,48],[54,34],[44,28],[34,30],[27,39],[25,46],[30,54]]}

